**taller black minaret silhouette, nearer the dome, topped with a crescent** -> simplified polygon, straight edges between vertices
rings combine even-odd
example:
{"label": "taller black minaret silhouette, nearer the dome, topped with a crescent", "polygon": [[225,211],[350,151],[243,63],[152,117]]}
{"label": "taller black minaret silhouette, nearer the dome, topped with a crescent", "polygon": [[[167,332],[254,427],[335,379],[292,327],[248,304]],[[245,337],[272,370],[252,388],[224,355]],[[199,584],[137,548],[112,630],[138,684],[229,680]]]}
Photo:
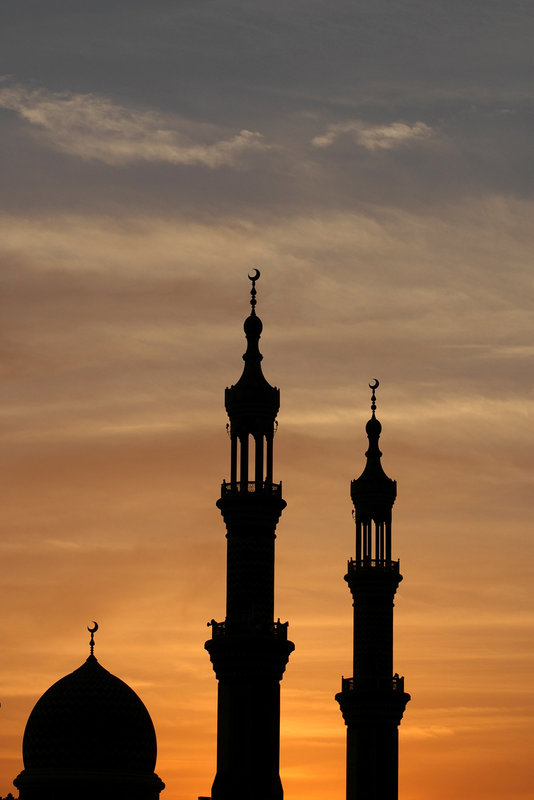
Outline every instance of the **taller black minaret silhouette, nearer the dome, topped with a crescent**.
{"label": "taller black minaret silhouette, nearer the dome, topped with a crescent", "polygon": [[282,800],[280,681],[289,654],[287,622],[274,622],[274,540],[285,500],[273,483],[273,439],[280,391],[261,370],[262,322],[256,281],[245,320],[243,374],[225,391],[230,481],[217,501],[226,523],[226,620],[212,620],[206,642],[219,681],[217,774],[213,800]]}

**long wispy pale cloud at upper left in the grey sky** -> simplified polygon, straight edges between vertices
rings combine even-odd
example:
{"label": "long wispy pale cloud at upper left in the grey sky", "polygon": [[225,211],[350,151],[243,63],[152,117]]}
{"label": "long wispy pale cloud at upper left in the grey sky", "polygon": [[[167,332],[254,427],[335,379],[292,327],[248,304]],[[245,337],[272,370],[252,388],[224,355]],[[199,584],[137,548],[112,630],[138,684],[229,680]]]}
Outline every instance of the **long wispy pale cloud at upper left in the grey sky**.
{"label": "long wispy pale cloud at upper left in the grey sky", "polygon": [[15,111],[56,149],[112,166],[144,161],[215,169],[237,166],[245,153],[267,149],[257,132],[217,138],[214,126],[127,108],[96,94],[5,86],[0,108]]}

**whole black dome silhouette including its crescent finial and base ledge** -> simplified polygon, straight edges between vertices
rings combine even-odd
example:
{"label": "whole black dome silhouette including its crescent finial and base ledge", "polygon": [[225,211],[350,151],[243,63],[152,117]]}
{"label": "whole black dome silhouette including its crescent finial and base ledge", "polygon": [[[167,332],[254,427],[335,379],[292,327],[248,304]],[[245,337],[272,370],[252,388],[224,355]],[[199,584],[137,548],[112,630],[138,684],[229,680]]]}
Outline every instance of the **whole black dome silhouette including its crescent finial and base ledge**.
{"label": "whole black dome silhouette including its crescent finial and base ledge", "polygon": [[20,800],[158,800],[156,733],[126,683],[91,653],[54,683],[31,712],[13,783]]}

